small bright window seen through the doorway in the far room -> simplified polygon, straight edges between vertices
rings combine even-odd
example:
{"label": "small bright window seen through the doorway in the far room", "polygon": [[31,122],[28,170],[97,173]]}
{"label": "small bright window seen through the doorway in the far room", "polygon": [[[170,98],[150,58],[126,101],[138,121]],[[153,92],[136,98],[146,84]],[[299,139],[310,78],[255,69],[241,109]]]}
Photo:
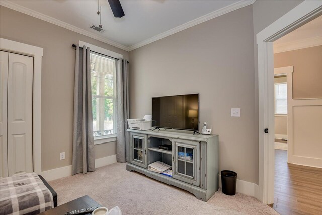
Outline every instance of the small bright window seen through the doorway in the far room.
{"label": "small bright window seen through the doorway in the far room", "polygon": [[275,84],[275,114],[287,114],[287,85]]}

